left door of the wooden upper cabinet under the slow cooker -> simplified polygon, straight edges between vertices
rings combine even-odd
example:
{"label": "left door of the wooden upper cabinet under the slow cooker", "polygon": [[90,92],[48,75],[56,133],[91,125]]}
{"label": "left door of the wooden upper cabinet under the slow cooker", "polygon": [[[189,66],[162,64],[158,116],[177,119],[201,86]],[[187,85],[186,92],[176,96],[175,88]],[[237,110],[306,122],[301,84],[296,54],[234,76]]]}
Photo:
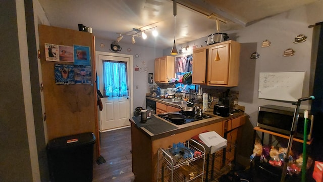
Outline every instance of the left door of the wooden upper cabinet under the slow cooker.
{"label": "left door of the wooden upper cabinet under the slow cooker", "polygon": [[206,53],[206,47],[193,50],[192,83],[194,84],[206,84]]}

